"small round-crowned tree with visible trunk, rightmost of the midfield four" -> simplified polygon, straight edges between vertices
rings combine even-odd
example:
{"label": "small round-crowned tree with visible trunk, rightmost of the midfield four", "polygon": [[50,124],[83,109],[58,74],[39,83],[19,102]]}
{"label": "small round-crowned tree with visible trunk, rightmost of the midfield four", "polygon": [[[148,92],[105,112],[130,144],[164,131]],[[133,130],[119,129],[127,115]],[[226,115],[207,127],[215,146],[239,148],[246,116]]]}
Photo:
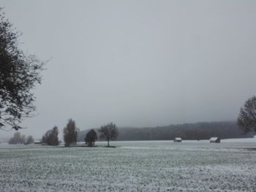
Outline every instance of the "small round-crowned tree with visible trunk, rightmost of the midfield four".
{"label": "small round-crowned tree with visible trunk, rightmost of the midfield four", "polygon": [[105,126],[102,126],[99,129],[100,138],[105,139],[108,141],[108,147],[109,147],[109,141],[116,139],[118,137],[118,129],[116,128],[116,124],[114,123],[108,123]]}

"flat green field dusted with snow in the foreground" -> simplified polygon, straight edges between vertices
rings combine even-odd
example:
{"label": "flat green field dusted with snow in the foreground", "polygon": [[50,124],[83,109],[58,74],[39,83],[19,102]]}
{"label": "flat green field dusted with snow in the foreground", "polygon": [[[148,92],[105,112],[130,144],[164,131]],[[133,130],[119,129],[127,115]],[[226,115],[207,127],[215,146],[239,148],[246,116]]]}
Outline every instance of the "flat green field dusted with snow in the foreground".
{"label": "flat green field dusted with snow in the foreground", "polygon": [[0,145],[0,191],[256,191],[256,142]]}

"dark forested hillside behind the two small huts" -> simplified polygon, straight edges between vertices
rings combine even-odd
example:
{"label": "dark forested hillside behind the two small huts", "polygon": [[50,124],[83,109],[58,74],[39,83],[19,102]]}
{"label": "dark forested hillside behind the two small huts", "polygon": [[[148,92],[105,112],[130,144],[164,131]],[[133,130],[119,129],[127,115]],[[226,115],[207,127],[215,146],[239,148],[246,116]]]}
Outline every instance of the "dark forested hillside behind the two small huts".
{"label": "dark forested hillside behind the two small huts", "polygon": [[[95,128],[96,131],[99,129]],[[78,142],[83,142],[86,131],[78,132]],[[118,141],[135,140],[170,140],[175,137],[182,139],[209,139],[220,137],[221,139],[253,137],[253,133],[243,134],[235,121],[210,122],[210,123],[184,123],[170,126],[146,127],[146,128],[121,128],[118,127]]]}

